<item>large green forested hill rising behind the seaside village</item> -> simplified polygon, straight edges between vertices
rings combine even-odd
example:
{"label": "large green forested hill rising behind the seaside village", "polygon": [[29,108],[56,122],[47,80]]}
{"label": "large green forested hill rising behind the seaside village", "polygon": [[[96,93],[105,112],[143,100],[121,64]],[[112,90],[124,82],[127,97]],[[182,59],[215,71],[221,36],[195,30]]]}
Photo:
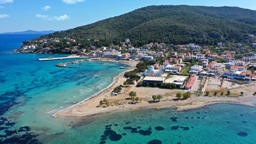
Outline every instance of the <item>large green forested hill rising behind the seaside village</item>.
{"label": "large green forested hill rising behind the seaside village", "polygon": [[[69,37],[76,41],[99,39],[120,43],[130,38],[135,46],[150,42],[213,44],[242,41],[256,34],[256,11],[238,7],[160,5],[101,20],[40,38]],[[39,39],[39,38],[37,38]]]}

